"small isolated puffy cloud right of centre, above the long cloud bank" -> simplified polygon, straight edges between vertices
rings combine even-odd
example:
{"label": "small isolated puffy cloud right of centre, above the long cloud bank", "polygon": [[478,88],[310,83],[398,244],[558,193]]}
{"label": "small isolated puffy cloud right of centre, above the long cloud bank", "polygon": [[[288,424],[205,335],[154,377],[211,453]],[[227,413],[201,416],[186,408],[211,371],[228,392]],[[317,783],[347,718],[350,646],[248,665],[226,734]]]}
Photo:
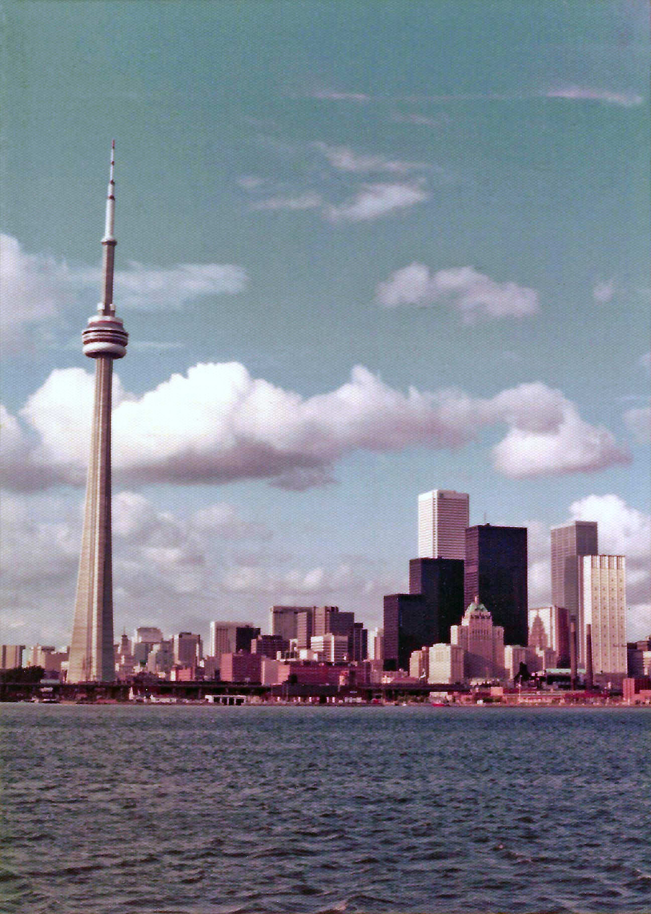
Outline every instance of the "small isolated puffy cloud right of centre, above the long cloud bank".
{"label": "small isolated puffy cloud right of centre, above the long cloud bank", "polygon": [[522,317],[538,311],[538,294],[515,282],[496,282],[473,267],[455,267],[431,273],[422,263],[411,263],[380,282],[376,290],[386,307],[400,304],[452,303],[465,324],[481,318]]}

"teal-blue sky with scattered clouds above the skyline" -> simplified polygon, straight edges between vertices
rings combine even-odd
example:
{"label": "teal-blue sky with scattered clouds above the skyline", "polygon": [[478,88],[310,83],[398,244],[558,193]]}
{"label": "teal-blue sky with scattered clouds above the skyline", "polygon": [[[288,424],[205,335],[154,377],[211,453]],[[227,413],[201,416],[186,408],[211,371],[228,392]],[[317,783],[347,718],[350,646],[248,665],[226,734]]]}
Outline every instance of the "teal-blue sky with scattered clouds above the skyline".
{"label": "teal-blue sky with scattered clouds above the skyline", "polygon": [[596,520],[651,633],[646,2],[8,2],[0,642],[69,643],[115,139],[116,637],[369,628],[418,494]]}

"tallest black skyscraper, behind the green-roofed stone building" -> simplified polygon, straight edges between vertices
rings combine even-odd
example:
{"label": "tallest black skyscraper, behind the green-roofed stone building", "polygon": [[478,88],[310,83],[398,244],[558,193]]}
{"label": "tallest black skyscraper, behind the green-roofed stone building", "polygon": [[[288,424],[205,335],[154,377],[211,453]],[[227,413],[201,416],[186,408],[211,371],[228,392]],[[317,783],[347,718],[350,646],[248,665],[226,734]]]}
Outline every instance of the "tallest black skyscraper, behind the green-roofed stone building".
{"label": "tallest black skyscraper, behind the green-roofed stone building", "polygon": [[528,641],[527,527],[481,524],[465,531],[464,603],[479,595],[505,644]]}

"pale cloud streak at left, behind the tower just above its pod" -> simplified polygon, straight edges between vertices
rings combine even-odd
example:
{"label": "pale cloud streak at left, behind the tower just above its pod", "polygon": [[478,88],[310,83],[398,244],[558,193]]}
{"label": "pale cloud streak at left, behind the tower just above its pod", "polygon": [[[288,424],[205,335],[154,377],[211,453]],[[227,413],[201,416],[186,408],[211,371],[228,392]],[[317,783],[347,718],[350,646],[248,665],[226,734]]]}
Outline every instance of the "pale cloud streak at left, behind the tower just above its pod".
{"label": "pale cloud streak at left, behind the tower just above its pod", "polygon": [[[115,271],[118,308],[179,308],[203,295],[241,292],[246,272],[234,264],[179,263],[169,269],[128,264]],[[18,239],[0,235],[0,312],[5,345],[24,339],[29,326],[69,307],[89,287],[99,292],[101,268],[72,266],[47,254],[28,254]]]}

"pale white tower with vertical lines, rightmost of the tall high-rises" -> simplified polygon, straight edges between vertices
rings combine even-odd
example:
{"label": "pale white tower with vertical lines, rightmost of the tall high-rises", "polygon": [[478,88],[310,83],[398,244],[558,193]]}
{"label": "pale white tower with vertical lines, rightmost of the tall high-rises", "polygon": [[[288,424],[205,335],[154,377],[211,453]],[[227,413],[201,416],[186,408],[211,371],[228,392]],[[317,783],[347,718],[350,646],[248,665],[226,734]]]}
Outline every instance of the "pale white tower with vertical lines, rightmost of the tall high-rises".
{"label": "pale white tower with vertical lines, rightmost of the tall high-rises", "polygon": [[586,659],[592,625],[592,671],[626,673],[626,559],[582,556],[579,562],[579,659]]}

